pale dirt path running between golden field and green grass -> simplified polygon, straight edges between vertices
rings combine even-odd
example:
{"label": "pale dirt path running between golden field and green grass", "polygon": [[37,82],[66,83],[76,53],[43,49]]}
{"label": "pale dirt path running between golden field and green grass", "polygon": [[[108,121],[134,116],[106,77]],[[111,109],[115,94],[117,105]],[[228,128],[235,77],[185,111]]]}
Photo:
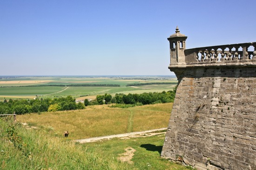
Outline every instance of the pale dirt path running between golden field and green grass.
{"label": "pale dirt path running between golden field and green grass", "polygon": [[91,137],[91,138],[87,138],[87,139],[75,140],[75,142],[79,142],[79,143],[83,144],[83,143],[89,143],[89,142],[109,140],[114,137],[119,137],[119,138],[148,137],[148,136],[154,136],[154,135],[158,135],[158,134],[165,134],[166,131],[165,132],[157,132],[157,131],[164,131],[164,130],[167,131],[167,128],[154,129],[154,130],[149,130],[149,131],[138,131],[138,132],[124,133],[124,134],[110,135],[110,136],[103,136],[103,137]]}

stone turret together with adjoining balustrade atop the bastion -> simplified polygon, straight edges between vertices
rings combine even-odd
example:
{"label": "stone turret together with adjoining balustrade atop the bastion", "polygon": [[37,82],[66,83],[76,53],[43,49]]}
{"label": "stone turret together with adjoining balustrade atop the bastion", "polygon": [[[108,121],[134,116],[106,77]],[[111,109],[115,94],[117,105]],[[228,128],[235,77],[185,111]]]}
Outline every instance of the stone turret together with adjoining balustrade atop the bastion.
{"label": "stone turret together with adjoining balustrade atop the bastion", "polygon": [[168,38],[171,71],[184,67],[256,66],[256,42],[186,49],[186,39],[178,26]]}

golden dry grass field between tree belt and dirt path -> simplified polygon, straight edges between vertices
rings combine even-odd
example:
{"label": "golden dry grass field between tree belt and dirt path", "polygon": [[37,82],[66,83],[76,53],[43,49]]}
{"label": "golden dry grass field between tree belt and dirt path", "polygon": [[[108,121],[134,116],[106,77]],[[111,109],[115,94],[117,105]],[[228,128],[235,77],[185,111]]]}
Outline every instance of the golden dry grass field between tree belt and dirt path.
{"label": "golden dry grass field between tree belt and dirt path", "polygon": [[17,121],[44,126],[56,135],[68,131],[69,138],[82,139],[167,127],[171,109],[172,103],[128,109],[93,105],[84,110],[17,115]]}

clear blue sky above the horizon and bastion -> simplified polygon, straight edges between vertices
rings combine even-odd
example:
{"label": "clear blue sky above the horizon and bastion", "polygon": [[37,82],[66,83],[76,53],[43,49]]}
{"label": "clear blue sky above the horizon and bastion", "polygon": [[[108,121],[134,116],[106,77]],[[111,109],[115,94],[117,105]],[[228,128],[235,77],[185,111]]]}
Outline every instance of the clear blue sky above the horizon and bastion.
{"label": "clear blue sky above the horizon and bastion", "polygon": [[174,75],[186,48],[256,41],[256,0],[0,0],[0,75]]}

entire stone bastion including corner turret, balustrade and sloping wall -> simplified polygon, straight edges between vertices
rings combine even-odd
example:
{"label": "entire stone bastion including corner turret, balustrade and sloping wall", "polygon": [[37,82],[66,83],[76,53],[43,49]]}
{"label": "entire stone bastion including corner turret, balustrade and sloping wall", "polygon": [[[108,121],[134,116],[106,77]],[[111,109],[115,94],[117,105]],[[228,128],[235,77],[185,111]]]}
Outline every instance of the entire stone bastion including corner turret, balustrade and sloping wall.
{"label": "entire stone bastion including corner turret, balustrade and sloping wall", "polygon": [[256,43],[186,50],[186,39],[178,28],[168,38],[179,84],[161,156],[197,170],[256,170]]}

